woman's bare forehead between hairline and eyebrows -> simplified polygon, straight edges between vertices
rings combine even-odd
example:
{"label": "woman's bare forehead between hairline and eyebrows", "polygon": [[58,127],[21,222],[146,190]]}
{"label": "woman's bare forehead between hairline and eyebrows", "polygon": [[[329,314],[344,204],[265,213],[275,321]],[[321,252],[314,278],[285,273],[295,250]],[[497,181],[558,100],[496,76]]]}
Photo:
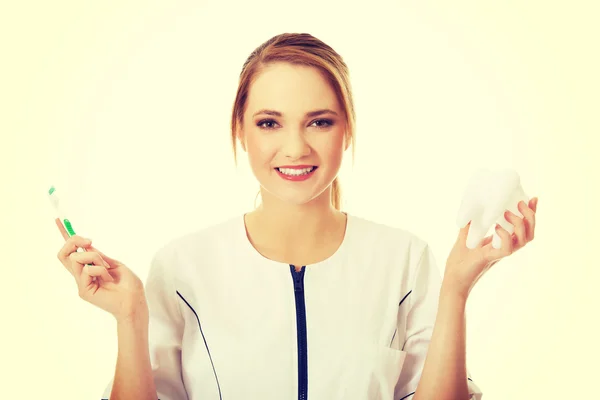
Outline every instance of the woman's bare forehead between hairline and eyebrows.
{"label": "woman's bare forehead between hairline and eyebrows", "polygon": [[251,85],[247,110],[263,108],[296,116],[320,108],[340,112],[333,88],[318,69],[289,63],[268,65]]}

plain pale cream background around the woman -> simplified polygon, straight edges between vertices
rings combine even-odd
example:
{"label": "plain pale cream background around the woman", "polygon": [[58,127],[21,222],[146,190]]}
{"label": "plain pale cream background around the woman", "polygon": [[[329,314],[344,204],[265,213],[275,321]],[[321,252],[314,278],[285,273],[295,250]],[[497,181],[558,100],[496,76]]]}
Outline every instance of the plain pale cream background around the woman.
{"label": "plain pale cream background around the woman", "polygon": [[230,148],[237,79],[262,42],[307,32],[350,68],[357,148],[340,175],[346,211],[419,235],[443,273],[475,168],[514,168],[540,199],[535,240],[496,264],[467,304],[468,367],[484,399],[592,398],[597,10],[214,3],[0,7],[2,397],[99,399],[114,373],[115,322],[79,299],[56,258],[49,187],[70,203],[77,233],[145,280],[166,241],[252,209],[258,183]]}

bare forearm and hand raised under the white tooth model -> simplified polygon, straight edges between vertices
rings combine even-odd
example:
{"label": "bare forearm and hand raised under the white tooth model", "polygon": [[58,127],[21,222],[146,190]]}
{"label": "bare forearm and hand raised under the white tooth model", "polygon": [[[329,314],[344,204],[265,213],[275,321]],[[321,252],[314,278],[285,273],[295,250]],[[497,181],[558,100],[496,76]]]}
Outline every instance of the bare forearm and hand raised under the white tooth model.
{"label": "bare forearm and hand raised under the white tooth model", "polygon": [[[505,217],[514,225],[514,235],[500,225],[496,231],[502,239],[500,249],[492,246],[492,236],[484,238],[474,249],[466,246],[471,223],[460,229],[446,262],[444,280],[439,291],[436,316],[429,351],[424,363],[416,400],[469,399],[465,362],[465,304],[475,283],[500,259],[511,255],[533,240],[537,198],[529,207],[519,202],[523,219],[510,211]],[[476,394],[480,398],[481,393]]]}

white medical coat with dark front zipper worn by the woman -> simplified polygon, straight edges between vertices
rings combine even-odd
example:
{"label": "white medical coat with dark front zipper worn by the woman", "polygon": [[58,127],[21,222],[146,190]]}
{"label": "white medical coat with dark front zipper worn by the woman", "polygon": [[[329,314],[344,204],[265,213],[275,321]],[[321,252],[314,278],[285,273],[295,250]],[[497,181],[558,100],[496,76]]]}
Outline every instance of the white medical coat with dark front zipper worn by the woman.
{"label": "white medical coat with dark front zipper worn by the woman", "polygon": [[350,214],[336,253],[300,273],[262,256],[241,215],[174,239],[146,282],[158,397],[410,400],[440,276],[425,241]]}

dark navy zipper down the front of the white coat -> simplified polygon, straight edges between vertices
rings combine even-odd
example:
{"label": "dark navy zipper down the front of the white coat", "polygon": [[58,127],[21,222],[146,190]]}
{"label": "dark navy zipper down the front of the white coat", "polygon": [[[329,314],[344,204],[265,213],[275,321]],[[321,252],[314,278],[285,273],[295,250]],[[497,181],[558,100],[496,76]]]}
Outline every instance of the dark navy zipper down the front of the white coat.
{"label": "dark navy zipper down the front of the white coat", "polygon": [[290,264],[294,280],[294,296],[296,298],[296,326],[298,328],[298,400],[308,398],[308,354],[306,348],[306,304],[304,302],[304,271]]}

